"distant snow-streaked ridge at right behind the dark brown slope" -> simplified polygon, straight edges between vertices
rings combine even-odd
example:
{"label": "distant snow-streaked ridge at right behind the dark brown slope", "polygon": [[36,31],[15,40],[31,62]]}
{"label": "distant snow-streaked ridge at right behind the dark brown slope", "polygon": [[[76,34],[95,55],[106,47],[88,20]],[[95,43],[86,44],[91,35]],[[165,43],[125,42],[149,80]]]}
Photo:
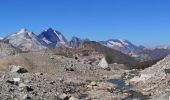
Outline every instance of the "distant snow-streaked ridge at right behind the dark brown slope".
{"label": "distant snow-streaked ridge at right behind the dark brown slope", "polygon": [[158,60],[170,54],[170,46],[158,46],[152,49],[143,46],[136,46],[128,40],[110,39],[100,41],[100,44],[127,54],[138,61]]}

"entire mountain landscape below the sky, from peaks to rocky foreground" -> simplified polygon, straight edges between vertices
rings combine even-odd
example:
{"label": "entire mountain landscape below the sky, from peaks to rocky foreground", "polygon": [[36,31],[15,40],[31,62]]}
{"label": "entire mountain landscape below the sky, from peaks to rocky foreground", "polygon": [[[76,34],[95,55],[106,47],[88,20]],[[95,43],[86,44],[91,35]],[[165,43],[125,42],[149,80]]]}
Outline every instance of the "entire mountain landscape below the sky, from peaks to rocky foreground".
{"label": "entire mountain landscape below the sky, from peaks to rocky foreground", "polygon": [[[2,100],[166,100],[170,49],[128,40],[67,40],[52,28],[0,41]],[[139,68],[142,66],[142,68]]]}

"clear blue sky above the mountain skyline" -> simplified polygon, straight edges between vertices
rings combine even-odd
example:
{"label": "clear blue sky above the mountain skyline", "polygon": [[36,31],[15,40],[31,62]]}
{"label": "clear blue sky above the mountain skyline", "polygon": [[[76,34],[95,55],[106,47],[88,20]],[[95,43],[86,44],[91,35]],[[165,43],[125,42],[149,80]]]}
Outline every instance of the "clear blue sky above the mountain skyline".
{"label": "clear blue sky above the mountain skyline", "polygon": [[49,27],[67,39],[170,44],[170,0],[0,0],[0,36]]}

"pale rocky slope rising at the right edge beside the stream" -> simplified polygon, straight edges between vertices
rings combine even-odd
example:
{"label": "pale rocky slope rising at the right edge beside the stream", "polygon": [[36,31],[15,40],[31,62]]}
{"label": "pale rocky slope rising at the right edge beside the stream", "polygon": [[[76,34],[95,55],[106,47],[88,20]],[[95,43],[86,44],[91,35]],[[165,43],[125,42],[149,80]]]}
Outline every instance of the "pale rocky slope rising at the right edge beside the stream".
{"label": "pale rocky slope rising at the right edge beside the stream", "polygon": [[168,100],[170,94],[170,56],[139,72],[130,80],[136,89],[153,100]]}

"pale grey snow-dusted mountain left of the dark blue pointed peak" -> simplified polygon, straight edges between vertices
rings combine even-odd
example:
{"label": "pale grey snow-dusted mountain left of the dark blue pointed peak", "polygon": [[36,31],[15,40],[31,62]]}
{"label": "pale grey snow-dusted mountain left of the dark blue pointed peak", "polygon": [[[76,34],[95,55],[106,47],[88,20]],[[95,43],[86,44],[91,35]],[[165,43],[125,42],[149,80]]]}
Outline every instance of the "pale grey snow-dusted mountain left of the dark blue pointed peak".
{"label": "pale grey snow-dusted mountain left of the dark blue pointed peak", "polygon": [[44,46],[45,42],[41,41],[33,32],[27,29],[21,29],[19,32],[5,37],[3,41],[22,51],[38,51],[46,48]]}

